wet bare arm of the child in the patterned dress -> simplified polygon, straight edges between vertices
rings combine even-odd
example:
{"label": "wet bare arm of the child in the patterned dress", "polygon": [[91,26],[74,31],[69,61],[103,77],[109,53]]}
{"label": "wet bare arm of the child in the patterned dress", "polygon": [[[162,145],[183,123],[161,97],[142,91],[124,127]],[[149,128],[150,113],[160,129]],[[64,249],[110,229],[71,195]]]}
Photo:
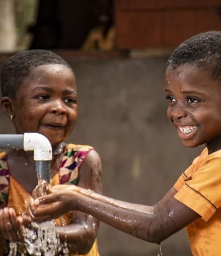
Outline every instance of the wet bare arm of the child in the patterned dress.
{"label": "wet bare arm of the child in the patterned dress", "polygon": [[[78,186],[101,193],[101,161],[96,151],[88,153],[79,172]],[[66,240],[69,251],[85,254],[90,251],[97,236],[99,221],[84,212],[73,211],[70,224],[56,226],[56,233],[61,240]],[[84,239],[82,239],[84,237]]]}

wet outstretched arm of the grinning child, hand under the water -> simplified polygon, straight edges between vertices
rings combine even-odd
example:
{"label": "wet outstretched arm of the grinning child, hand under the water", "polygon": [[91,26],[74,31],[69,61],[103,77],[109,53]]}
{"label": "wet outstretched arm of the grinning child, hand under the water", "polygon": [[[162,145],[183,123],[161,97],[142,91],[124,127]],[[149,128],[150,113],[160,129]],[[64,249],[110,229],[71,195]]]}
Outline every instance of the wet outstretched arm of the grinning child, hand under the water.
{"label": "wet outstretched arm of the grinning child, hand under the water", "polygon": [[156,205],[149,207],[122,202],[75,186],[63,190],[60,187],[52,188],[52,194],[30,202],[29,211],[34,219],[56,218],[76,209],[132,236],[159,244],[200,217],[173,198],[176,194],[173,188]]}

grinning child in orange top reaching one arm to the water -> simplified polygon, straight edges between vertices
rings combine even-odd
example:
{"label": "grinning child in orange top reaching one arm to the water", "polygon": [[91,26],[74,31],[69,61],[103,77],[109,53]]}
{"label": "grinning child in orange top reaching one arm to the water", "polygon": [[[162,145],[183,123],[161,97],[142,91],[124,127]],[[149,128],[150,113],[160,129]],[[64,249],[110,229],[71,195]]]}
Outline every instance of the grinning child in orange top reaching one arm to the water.
{"label": "grinning child in orange top reaching one arm to the water", "polygon": [[[153,206],[130,204],[75,186],[55,186],[29,204],[37,221],[87,212],[140,239],[161,241],[187,228],[193,255],[219,256],[221,239],[221,31],[179,45],[166,68],[167,117],[186,147],[205,149]],[[62,190],[60,190],[62,189]]]}

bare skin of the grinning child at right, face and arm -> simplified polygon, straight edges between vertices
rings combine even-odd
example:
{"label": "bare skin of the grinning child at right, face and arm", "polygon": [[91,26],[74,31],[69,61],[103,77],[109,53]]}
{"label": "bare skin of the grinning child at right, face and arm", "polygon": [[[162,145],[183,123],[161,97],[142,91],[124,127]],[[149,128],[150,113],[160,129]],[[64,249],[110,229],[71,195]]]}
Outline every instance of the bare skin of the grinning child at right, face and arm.
{"label": "bare skin of the grinning child at right, face and arm", "polygon": [[[206,144],[221,149],[221,82],[206,70],[183,65],[166,70],[167,117],[186,147]],[[143,240],[161,243],[200,216],[173,198],[172,187],[154,206],[130,204],[79,187],[52,187],[51,194],[30,201],[32,218],[55,218],[77,209]]]}

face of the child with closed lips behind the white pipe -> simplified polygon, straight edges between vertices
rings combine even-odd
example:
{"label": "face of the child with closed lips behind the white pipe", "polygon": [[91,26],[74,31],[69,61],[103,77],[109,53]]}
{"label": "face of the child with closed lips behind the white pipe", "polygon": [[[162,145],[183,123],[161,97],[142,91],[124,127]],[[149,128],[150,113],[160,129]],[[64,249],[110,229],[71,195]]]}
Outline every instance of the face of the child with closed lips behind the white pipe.
{"label": "face of the child with closed lips behind the white pipe", "polygon": [[41,133],[56,147],[77,119],[77,87],[72,70],[63,65],[35,67],[12,102],[17,133]]}

